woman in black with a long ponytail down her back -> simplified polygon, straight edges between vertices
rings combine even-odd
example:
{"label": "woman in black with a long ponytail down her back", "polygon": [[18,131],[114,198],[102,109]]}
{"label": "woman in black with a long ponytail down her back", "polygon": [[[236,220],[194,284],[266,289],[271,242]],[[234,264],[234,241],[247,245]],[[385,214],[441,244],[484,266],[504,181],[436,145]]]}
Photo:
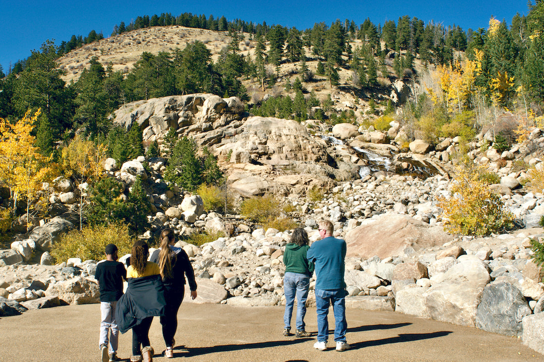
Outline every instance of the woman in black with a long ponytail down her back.
{"label": "woman in black with a long ponytail down her back", "polygon": [[177,311],[185,292],[185,277],[189,281],[191,298],[196,298],[196,282],[193,266],[187,253],[175,247],[176,237],[172,229],[160,233],[160,248],[153,252],[150,261],[157,263],[166,289],[166,313],[160,317],[166,349],[164,357],[174,358],[174,335],[177,329]]}

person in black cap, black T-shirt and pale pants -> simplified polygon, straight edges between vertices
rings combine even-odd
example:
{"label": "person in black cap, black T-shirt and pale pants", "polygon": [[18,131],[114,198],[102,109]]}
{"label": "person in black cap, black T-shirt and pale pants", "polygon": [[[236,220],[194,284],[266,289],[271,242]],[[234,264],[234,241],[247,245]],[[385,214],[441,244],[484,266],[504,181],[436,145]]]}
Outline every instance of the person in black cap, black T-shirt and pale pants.
{"label": "person in black cap, black T-shirt and pale pants", "polygon": [[[119,328],[115,319],[115,305],[123,294],[123,279],[127,279],[127,271],[117,261],[117,246],[106,245],[106,260],[96,265],[95,278],[100,286],[100,353],[102,362],[117,361]],[[109,331],[109,338],[108,338]]]}

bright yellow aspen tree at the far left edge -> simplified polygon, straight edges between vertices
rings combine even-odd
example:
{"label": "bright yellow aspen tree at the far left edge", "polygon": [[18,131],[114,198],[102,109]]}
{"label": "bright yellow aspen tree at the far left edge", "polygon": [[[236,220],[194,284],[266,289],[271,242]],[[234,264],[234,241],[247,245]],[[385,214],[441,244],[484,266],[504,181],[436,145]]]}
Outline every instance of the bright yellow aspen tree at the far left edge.
{"label": "bright yellow aspen tree at the far left edge", "polygon": [[52,157],[40,154],[39,148],[34,146],[35,137],[30,134],[40,111],[33,116],[28,111],[15,124],[0,118],[0,179],[10,189],[14,213],[17,198],[26,198],[27,228],[30,203],[38,196],[42,183],[51,180],[54,174]]}

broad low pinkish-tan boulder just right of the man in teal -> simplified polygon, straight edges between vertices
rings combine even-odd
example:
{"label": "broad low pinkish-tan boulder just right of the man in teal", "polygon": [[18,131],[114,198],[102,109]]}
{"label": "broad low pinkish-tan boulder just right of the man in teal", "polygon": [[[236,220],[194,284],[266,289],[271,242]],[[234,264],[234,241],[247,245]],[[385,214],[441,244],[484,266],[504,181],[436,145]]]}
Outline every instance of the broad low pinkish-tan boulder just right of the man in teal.
{"label": "broad low pinkish-tan boulder just right of the man in teal", "polygon": [[385,214],[349,230],[345,235],[348,256],[370,259],[378,255],[380,259],[405,254],[406,248],[416,251],[424,247],[443,245],[453,239],[441,227],[410,216]]}

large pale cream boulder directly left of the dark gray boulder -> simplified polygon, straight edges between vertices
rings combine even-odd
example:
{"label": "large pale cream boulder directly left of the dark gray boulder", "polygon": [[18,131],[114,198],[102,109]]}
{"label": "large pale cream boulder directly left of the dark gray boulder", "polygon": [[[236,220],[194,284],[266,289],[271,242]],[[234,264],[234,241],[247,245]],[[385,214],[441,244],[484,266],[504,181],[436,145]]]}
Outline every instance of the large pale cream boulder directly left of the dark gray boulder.
{"label": "large pale cream boulder directly left of the dark gray boulder", "polygon": [[425,305],[431,319],[474,327],[491,277],[487,265],[473,255],[461,255],[458,261],[425,292]]}

